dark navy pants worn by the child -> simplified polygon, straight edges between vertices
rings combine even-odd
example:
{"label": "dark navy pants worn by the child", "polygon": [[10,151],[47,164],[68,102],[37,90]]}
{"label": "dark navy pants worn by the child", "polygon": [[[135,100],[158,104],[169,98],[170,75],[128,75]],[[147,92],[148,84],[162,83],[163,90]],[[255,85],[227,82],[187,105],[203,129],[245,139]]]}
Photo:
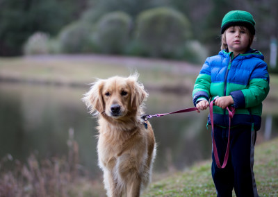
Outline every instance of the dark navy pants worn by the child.
{"label": "dark navy pants worn by the child", "polygon": [[[228,133],[229,128],[214,128],[221,165],[227,148]],[[251,126],[231,128],[230,140],[229,160],[224,169],[218,169],[212,154],[211,174],[217,194],[232,196],[232,190],[235,189],[236,196],[258,196],[253,172],[256,131]]]}

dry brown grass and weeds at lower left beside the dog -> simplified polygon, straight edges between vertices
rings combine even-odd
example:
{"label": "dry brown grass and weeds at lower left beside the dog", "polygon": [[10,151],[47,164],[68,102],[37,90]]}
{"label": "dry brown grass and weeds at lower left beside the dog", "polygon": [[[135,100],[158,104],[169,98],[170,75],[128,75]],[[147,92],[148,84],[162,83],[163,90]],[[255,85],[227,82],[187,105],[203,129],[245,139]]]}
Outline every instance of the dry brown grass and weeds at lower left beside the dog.
{"label": "dry brown grass and weeds at lower left beside the dog", "polygon": [[35,154],[22,164],[11,155],[0,161],[0,196],[104,196],[100,182],[79,165],[79,146],[69,130],[68,155],[38,161]]}

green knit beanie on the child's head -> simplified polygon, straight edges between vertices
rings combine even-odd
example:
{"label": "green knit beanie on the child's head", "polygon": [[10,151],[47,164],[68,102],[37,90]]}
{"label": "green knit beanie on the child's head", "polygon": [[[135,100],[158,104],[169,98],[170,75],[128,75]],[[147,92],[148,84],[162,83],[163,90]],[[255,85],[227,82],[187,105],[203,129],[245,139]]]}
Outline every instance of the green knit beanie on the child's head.
{"label": "green knit beanie on the child's head", "polygon": [[255,24],[256,22],[250,12],[233,10],[228,12],[222,19],[221,34],[230,26],[245,26],[252,35],[255,35]]}

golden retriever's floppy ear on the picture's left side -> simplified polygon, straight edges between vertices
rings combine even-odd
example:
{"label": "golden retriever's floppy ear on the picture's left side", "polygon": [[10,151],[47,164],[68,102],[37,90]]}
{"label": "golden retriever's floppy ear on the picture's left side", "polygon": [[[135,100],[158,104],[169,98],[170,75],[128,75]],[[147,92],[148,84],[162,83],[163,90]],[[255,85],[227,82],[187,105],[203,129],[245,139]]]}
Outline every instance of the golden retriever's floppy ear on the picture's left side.
{"label": "golden retriever's floppy ear on the picture's left side", "polygon": [[91,114],[96,111],[100,113],[104,111],[104,99],[102,98],[104,83],[105,80],[98,80],[96,83],[92,83],[90,91],[83,95],[82,101],[87,105]]}

